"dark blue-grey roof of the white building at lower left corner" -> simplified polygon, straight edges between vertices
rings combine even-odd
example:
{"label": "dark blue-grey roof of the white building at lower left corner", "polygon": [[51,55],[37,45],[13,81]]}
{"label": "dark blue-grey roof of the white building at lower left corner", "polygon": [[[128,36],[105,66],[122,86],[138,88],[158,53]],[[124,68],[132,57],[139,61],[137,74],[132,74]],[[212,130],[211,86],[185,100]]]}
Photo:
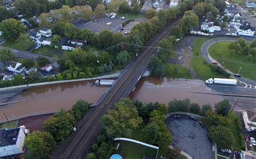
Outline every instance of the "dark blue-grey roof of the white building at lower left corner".
{"label": "dark blue-grey roof of the white building at lower left corner", "polygon": [[0,147],[16,144],[20,128],[0,129]]}

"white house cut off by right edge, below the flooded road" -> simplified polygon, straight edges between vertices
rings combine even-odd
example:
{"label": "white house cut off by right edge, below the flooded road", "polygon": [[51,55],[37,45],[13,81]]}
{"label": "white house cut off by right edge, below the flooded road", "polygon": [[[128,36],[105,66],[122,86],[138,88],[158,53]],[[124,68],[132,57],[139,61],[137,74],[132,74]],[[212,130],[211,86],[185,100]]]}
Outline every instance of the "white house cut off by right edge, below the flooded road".
{"label": "white house cut off by right edge, below the flooded road", "polygon": [[242,110],[242,119],[245,123],[245,129],[248,132],[256,131],[256,111]]}

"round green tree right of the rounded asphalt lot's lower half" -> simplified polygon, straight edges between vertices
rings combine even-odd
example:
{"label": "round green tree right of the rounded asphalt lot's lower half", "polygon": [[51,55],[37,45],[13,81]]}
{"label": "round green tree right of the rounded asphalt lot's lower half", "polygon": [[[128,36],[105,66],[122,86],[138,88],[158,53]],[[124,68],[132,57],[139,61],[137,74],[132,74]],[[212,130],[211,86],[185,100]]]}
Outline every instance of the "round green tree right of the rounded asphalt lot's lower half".
{"label": "round green tree right of the rounded asphalt lot's lower half", "polygon": [[211,138],[219,147],[228,148],[234,143],[234,136],[231,130],[224,126],[213,126],[210,128]]}

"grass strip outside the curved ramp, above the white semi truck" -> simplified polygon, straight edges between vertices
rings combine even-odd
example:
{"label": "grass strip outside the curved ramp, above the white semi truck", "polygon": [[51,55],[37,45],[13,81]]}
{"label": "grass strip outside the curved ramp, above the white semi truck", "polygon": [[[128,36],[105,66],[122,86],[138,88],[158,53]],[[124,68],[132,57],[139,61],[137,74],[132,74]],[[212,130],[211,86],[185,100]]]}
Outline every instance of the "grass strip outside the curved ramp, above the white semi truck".
{"label": "grass strip outside the curved ramp, above the white semi truck", "polygon": [[209,78],[219,77],[224,78],[223,75],[213,72],[207,61],[201,55],[201,46],[208,38],[198,38],[194,40],[193,44],[193,58],[190,60],[191,67],[197,73],[199,79],[206,80]]}

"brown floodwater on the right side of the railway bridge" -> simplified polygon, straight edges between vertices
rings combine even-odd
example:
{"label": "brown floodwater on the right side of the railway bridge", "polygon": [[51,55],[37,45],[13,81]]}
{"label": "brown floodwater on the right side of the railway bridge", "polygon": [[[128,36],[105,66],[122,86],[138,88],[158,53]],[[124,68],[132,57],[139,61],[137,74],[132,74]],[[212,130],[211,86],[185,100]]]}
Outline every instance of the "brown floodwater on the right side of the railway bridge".
{"label": "brown floodwater on the right side of the railway bridge", "polygon": [[190,92],[212,92],[201,80],[171,80],[167,78],[142,78],[136,89],[130,95],[132,100],[139,99],[143,102],[169,103],[170,100],[183,100],[189,98],[191,102],[199,103],[200,106],[215,103],[223,100],[220,95],[188,93]]}

